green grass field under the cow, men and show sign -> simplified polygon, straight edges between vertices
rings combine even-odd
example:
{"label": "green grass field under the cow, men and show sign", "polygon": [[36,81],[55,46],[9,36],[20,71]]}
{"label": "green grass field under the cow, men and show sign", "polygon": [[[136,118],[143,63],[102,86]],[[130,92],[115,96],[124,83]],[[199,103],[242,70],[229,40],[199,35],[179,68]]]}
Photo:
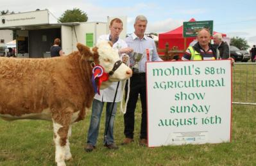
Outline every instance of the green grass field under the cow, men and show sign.
{"label": "green grass field under the cow, men and show sign", "polygon": [[[254,65],[253,65],[254,66]],[[252,92],[244,88],[256,80],[253,66],[236,65],[233,72],[233,100],[255,102]],[[256,66],[255,66],[256,67]],[[255,68],[256,69],[256,68]],[[240,71],[243,71],[240,73]],[[256,72],[255,72],[256,73]],[[234,80],[235,77],[235,80]],[[250,77],[247,83],[246,77]],[[245,100],[246,98],[246,100]],[[148,148],[139,146],[141,110],[135,117],[135,142],[119,146],[113,151],[103,147],[103,113],[98,146],[92,153],[83,150],[89,128],[90,112],[86,119],[73,125],[70,139],[73,160],[67,165],[256,165],[256,106],[233,105],[232,141],[222,144],[163,146]],[[138,103],[137,108],[140,108]],[[123,135],[123,113],[115,117],[115,141],[120,145]],[[47,121],[3,121],[0,119],[0,165],[55,165],[53,126]]]}

